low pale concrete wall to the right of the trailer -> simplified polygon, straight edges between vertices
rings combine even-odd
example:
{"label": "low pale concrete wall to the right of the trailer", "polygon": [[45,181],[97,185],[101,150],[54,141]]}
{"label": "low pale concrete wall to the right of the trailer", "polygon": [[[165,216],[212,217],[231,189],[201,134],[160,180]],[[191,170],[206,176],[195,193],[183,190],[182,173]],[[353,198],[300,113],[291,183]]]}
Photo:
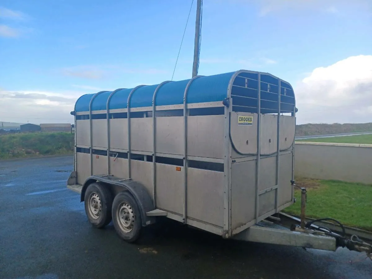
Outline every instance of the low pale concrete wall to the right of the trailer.
{"label": "low pale concrete wall to the right of the trailer", "polygon": [[296,142],[295,176],[372,184],[372,144]]}

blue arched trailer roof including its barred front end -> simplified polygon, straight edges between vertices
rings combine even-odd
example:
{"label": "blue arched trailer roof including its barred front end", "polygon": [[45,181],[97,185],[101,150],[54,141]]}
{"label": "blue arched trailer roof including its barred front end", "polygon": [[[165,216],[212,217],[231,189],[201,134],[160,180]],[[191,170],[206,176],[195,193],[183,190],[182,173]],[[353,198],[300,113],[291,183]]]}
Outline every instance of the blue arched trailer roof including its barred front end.
{"label": "blue arched trailer roof including its barred front end", "polygon": [[[187,90],[187,103],[205,103],[222,101],[228,96],[228,86],[231,78],[237,72],[217,74],[213,76],[198,77],[192,81]],[[188,80],[170,81],[164,83],[157,91],[156,106],[181,105]],[[269,85],[268,85],[269,84]],[[261,108],[262,113],[277,109],[279,79],[270,74],[261,73]],[[131,96],[129,107],[140,108],[153,105],[153,96],[158,84],[138,87]],[[268,90],[268,91],[267,91]],[[103,91],[94,97],[92,111],[106,110],[107,100],[110,97],[109,109],[127,108],[131,89],[118,89]],[[231,97],[233,105],[237,107],[257,108],[258,72],[239,71],[232,81]],[[265,93],[266,92],[266,93]],[[275,96],[276,95],[276,96]],[[289,83],[281,81],[281,110],[292,112],[295,105],[294,92]],[[89,111],[89,103],[94,94],[81,96],[76,104],[76,112]],[[275,105],[276,102],[276,105]],[[234,109],[233,106],[233,109]],[[268,109],[266,112],[265,109]],[[248,109],[251,110],[251,109]],[[241,111],[241,110],[238,110]],[[245,110],[243,110],[245,111]],[[271,112],[273,112],[271,111]],[[254,111],[252,111],[254,112]]]}

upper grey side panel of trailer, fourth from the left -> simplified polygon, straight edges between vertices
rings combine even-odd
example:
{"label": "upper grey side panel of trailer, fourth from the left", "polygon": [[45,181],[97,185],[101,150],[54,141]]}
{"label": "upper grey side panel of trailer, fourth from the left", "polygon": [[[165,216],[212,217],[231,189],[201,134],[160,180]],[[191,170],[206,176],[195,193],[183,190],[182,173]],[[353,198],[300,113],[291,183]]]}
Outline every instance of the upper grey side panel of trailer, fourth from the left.
{"label": "upper grey side panel of trailer, fourth from the left", "polygon": [[153,151],[153,119],[131,119],[131,150]]}

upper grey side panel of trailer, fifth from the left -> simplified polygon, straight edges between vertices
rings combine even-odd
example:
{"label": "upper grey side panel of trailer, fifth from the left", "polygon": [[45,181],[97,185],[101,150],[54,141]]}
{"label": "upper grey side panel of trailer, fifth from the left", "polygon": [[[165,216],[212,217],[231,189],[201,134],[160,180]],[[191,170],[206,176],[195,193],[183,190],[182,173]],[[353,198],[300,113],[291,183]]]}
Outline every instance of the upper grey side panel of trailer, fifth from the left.
{"label": "upper grey side panel of trailer, fifth from the left", "polygon": [[157,117],[156,152],[183,154],[184,131],[183,116]]}

